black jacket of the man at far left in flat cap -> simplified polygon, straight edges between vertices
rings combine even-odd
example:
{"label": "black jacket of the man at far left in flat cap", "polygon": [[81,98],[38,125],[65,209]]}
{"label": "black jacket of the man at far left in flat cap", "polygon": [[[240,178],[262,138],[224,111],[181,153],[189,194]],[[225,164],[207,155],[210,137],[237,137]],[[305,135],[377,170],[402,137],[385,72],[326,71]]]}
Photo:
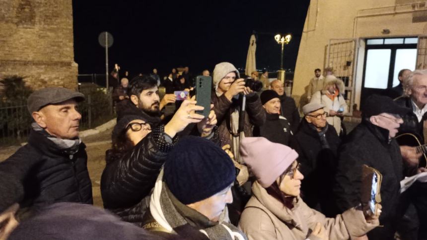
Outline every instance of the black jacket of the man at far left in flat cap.
{"label": "black jacket of the man at far left in flat cap", "polygon": [[0,212],[17,202],[21,207],[54,202],[92,204],[85,145],[70,156],[38,131],[28,144],[0,163]]}

